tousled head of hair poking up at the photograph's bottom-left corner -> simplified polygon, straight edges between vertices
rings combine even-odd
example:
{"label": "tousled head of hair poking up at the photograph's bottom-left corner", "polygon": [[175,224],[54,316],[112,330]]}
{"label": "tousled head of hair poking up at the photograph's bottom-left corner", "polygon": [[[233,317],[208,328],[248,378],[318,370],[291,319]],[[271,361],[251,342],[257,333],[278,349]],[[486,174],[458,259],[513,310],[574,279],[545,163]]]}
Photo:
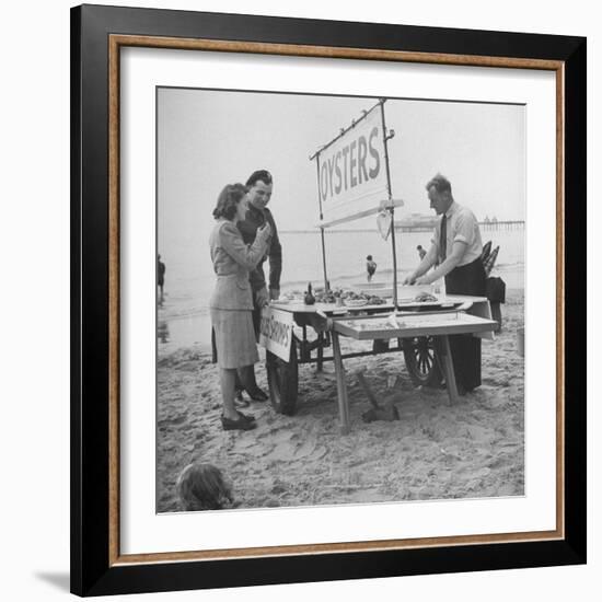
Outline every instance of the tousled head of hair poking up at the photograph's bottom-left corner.
{"label": "tousled head of hair poking up at the photograph's bottom-left corner", "polygon": [[188,464],[175,484],[183,510],[220,510],[232,502],[232,489],[212,464]]}

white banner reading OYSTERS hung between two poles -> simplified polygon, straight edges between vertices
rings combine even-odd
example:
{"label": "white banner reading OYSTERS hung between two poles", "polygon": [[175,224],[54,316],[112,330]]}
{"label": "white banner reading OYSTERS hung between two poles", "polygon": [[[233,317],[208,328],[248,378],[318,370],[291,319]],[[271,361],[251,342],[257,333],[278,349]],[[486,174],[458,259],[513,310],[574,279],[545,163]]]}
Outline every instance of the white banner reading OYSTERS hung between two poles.
{"label": "white banner reading OYSTERS hung between two poles", "polygon": [[324,224],[374,213],[389,196],[380,106],[316,155]]}

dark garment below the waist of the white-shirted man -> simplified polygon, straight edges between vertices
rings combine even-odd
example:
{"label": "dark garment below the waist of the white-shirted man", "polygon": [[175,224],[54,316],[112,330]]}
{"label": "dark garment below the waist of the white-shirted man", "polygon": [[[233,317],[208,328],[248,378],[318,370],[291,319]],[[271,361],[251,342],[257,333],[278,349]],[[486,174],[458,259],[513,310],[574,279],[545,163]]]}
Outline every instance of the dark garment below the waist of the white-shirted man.
{"label": "dark garment below the waist of the white-shirted man", "polygon": [[[486,297],[486,279],[483,262],[477,257],[445,276],[445,293]],[[449,338],[455,381],[461,387],[472,391],[481,385],[481,338],[473,335],[453,335]]]}

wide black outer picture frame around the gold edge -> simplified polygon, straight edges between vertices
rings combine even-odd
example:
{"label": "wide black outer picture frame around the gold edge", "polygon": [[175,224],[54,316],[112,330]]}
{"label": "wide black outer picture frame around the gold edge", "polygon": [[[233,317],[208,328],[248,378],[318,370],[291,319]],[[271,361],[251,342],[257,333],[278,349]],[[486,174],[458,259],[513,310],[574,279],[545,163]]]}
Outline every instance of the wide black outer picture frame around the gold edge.
{"label": "wide black outer picture frame around the gold edge", "polygon": [[[563,534],[403,549],[170,563],[115,562],[112,444],[109,36],[362,48],[558,63],[562,94],[564,312]],[[454,59],[454,57],[458,57]],[[463,58],[464,57],[464,58]],[[416,59],[418,60],[418,59]],[[82,5],[71,10],[71,591],[79,595],[364,579],[586,563],[586,68],[582,37]],[[115,150],[113,150],[115,153]],[[115,155],[115,154],[114,154]],[[118,153],[117,153],[118,155]],[[113,282],[113,285],[112,285]],[[117,300],[118,303],[118,300]],[[112,361],[117,362],[113,364]],[[115,391],[114,391],[115,393]],[[118,554],[117,554],[118,556]]]}

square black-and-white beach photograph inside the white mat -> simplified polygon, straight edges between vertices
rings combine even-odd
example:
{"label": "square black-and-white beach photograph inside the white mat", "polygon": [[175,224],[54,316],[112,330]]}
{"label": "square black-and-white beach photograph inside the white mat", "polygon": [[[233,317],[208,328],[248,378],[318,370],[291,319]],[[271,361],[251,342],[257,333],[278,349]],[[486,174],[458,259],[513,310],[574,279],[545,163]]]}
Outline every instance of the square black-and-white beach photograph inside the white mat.
{"label": "square black-and-white beach photograph inside the white mat", "polygon": [[155,106],[157,512],[524,496],[525,106]]}

